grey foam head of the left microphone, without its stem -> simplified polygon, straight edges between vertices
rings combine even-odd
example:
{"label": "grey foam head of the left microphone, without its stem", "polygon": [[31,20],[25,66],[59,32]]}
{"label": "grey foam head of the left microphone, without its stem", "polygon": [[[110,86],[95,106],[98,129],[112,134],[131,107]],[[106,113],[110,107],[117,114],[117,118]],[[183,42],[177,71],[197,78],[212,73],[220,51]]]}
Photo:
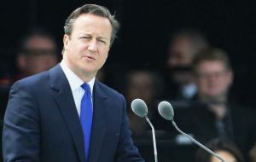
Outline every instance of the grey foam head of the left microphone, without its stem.
{"label": "grey foam head of the left microphone, without its stem", "polygon": [[142,99],[137,98],[131,101],[131,109],[139,117],[144,118],[148,115],[148,107]]}

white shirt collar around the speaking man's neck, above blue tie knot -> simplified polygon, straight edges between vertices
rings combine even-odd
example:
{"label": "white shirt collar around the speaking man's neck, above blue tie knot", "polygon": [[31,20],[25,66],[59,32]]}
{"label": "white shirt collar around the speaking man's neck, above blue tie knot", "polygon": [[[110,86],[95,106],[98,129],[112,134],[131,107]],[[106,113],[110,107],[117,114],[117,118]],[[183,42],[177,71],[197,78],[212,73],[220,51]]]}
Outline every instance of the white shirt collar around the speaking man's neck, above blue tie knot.
{"label": "white shirt collar around the speaking man's neck, above blue tie knot", "polygon": [[[78,88],[81,88],[81,85],[84,84],[84,81],[79,78],[69,67],[67,67],[67,64],[65,61],[61,61],[61,68],[63,72],[65,73],[67,77],[67,81],[70,85],[71,90],[76,90]],[[90,93],[92,94],[93,87],[95,83],[95,77],[92,78],[87,84],[90,85]]]}

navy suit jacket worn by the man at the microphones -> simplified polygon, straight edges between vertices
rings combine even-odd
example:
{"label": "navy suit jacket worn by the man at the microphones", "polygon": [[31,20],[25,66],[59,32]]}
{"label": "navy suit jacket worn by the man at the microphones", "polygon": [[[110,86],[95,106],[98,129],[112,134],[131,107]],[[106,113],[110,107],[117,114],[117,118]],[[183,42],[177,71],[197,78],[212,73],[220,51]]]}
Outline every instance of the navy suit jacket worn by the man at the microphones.
{"label": "navy suit jacket worn by the man at the microphones", "polygon": [[[125,98],[95,82],[89,162],[143,161],[131,140]],[[60,65],[16,82],[3,124],[4,161],[84,162],[84,138]]]}

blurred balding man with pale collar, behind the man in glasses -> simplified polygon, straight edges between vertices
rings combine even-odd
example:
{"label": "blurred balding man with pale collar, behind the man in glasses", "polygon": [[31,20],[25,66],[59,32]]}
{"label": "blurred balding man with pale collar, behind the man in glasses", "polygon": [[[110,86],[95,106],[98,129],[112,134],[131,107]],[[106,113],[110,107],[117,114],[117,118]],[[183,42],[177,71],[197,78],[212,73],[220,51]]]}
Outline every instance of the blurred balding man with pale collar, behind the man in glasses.
{"label": "blurred balding man with pale collar, behind the man in glasses", "polygon": [[187,100],[196,93],[191,65],[196,53],[208,46],[201,32],[183,29],[172,36],[166,61],[169,87],[166,96],[171,100]]}

